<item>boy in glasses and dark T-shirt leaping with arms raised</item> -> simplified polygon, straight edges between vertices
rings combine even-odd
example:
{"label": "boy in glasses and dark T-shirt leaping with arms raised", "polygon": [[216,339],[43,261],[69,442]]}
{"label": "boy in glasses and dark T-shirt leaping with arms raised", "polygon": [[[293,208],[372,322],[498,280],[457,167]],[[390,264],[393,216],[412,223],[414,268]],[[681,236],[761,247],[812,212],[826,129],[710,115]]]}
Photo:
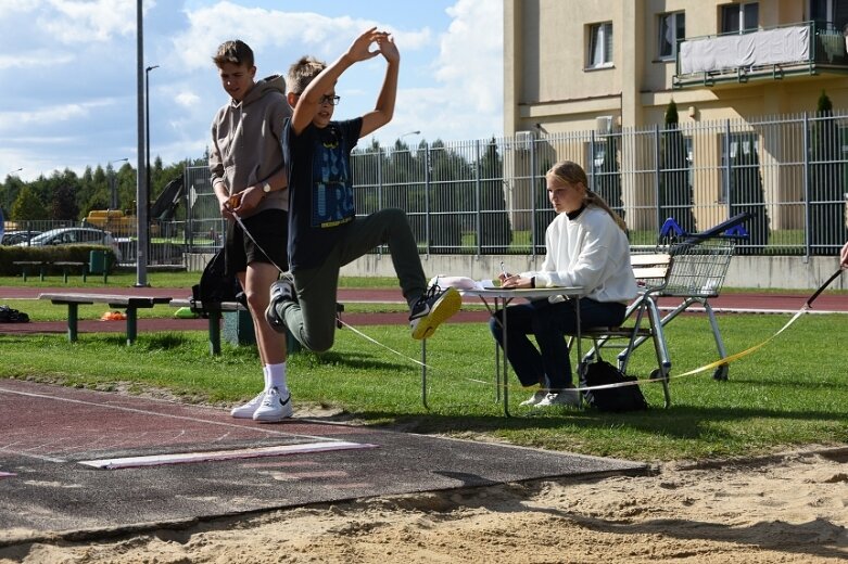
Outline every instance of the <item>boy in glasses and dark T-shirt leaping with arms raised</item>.
{"label": "boy in glasses and dark T-shirt leaping with arms raised", "polygon": [[[370,48],[376,44],[377,49]],[[333,121],[340,98],[336,82],[351,65],[381,54],[385,78],[374,111]],[[302,57],[289,70],[289,104],[294,108],[283,130],[289,166],[289,260],[291,278],[271,285],[265,315],[279,332],[288,326],[306,348],[324,351],[336,334],[339,269],[387,244],[404,298],[414,338],[427,338],[459,310],[459,293],[427,287],[406,214],[381,209],[355,217],[351,151],[357,141],[384,126],[394,114],[401,55],[385,31],[360,35],[336,62]]]}

